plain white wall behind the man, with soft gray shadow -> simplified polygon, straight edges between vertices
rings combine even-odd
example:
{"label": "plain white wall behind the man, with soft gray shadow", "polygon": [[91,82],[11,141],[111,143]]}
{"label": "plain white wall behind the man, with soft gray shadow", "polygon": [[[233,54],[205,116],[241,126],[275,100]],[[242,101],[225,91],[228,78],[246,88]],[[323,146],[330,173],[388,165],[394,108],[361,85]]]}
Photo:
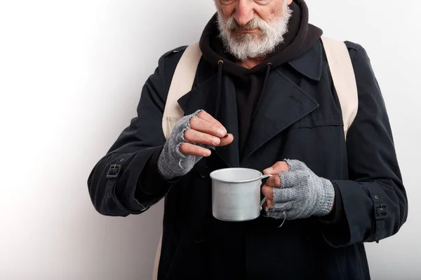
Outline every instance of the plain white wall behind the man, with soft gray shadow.
{"label": "plain white wall behind the man, with soft gray shadow", "polygon": [[[421,2],[307,1],[326,35],[366,48],[394,131],[410,215],[368,244],[373,279],[421,279]],[[0,279],[151,279],[161,204],[100,216],[86,179],[158,58],[198,40],[214,11],[211,0],[0,0]]]}

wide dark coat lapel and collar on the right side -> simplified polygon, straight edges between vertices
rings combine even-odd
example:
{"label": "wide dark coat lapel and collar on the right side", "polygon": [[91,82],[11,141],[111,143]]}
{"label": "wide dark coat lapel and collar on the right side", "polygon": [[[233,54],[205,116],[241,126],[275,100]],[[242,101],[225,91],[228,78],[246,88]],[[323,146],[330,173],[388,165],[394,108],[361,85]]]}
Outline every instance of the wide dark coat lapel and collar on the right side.
{"label": "wide dark coat lapel and collar on the right side", "polygon": [[[309,80],[319,81],[323,62],[321,41],[305,55],[289,62],[290,66]],[[269,75],[255,119],[248,134],[241,162],[255,153],[267,141],[314,111],[319,104],[302,87],[293,83],[279,69]]]}

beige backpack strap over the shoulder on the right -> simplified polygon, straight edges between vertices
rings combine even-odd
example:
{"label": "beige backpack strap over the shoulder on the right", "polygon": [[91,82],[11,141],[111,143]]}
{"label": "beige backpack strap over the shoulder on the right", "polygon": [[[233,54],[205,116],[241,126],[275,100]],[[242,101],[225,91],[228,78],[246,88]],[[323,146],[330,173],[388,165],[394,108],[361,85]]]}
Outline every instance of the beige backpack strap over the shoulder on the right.
{"label": "beige backpack strap over the shoulder on the right", "polygon": [[345,139],[349,127],[354,122],[356,112],[358,111],[358,91],[354,67],[347,45],[341,41],[335,41],[325,36],[321,37],[323,47],[326,52],[330,74],[332,75],[333,85],[335,85],[340,107],[342,109],[342,120],[344,123]]}

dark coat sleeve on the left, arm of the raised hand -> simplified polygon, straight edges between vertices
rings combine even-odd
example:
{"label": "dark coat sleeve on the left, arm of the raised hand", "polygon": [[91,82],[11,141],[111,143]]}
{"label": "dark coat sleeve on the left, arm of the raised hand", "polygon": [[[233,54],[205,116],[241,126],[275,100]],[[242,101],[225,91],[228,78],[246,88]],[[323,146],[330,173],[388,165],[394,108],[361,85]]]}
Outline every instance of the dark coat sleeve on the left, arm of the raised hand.
{"label": "dark coat sleeve on the left, arm of the raised hand", "polygon": [[161,122],[172,78],[168,73],[173,73],[181,56],[178,50],[166,59],[172,52],[175,53],[168,52],[159,59],[159,66],[146,81],[138,104],[138,116],[121,132],[88,177],[89,195],[100,214],[140,214],[159,202],[176,181],[164,180],[156,167],[166,141]]}

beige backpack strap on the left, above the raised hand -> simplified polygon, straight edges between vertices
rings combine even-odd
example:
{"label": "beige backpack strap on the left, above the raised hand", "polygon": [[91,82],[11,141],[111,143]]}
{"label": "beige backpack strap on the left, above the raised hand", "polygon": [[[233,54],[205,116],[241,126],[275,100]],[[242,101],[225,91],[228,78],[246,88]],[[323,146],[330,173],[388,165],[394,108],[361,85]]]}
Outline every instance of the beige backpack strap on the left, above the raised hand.
{"label": "beige backpack strap on the left, above the raised hand", "polygon": [[175,68],[162,117],[162,131],[166,139],[170,137],[178,120],[184,116],[178,99],[192,90],[201,55],[199,43],[192,43],[186,48]]}

